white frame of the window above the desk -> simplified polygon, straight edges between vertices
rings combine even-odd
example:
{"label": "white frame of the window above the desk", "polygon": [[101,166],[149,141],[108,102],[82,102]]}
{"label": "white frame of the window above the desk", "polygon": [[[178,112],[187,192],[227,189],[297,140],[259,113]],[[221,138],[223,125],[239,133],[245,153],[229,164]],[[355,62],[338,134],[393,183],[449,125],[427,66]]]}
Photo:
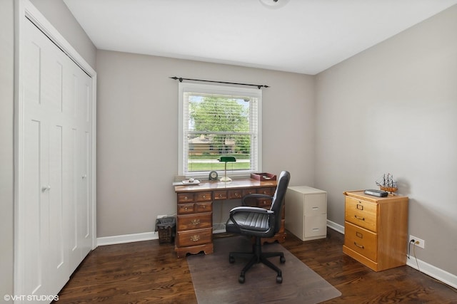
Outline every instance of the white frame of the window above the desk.
{"label": "white frame of the window above the desk", "polygon": [[[200,83],[179,83],[179,117],[178,117],[178,174],[184,177],[200,177],[207,178],[209,172],[185,172],[184,169],[186,166],[184,164],[188,160],[188,154],[185,153],[184,147],[184,138],[187,137],[187,132],[184,129],[184,94],[185,93],[203,93],[203,94],[214,94],[214,95],[233,95],[233,96],[246,96],[251,98],[257,98],[257,111],[256,111],[256,121],[257,121],[257,140],[256,147],[254,147],[254,153],[251,154],[251,162],[254,164],[251,165],[251,168],[248,170],[237,170],[235,172],[227,172],[227,175],[230,177],[248,177],[251,173],[261,172],[262,164],[262,90],[258,88],[241,88],[236,86],[229,85],[208,85]],[[251,141],[251,145],[253,142]],[[252,150],[252,149],[251,149]],[[218,170],[219,176],[224,170]]]}

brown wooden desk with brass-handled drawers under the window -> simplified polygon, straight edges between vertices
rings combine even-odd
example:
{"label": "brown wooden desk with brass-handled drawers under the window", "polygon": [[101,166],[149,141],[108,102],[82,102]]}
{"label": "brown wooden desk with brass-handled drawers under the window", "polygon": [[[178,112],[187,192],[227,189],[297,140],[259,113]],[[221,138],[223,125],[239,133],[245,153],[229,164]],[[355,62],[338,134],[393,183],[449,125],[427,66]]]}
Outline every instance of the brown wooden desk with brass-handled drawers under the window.
{"label": "brown wooden desk with brass-handled drawers under the window", "polygon": [[[179,258],[186,253],[213,253],[213,202],[224,199],[241,199],[247,194],[273,195],[276,181],[260,182],[256,179],[233,179],[232,182],[206,181],[199,185],[175,186],[177,196],[177,221],[175,251]],[[250,206],[269,209],[271,200],[255,199]],[[284,206],[282,209],[281,229],[271,239],[263,241],[286,240],[284,230]]]}

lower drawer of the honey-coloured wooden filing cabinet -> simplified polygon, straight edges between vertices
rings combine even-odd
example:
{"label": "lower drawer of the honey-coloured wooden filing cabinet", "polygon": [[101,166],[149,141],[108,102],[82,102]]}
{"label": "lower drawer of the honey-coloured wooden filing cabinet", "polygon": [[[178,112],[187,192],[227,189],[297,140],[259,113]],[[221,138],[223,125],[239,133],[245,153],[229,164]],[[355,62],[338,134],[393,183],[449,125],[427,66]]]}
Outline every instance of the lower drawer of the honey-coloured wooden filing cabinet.
{"label": "lower drawer of the honey-coloured wooden filing cabinet", "polygon": [[344,245],[376,262],[378,252],[377,234],[346,221],[344,226]]}

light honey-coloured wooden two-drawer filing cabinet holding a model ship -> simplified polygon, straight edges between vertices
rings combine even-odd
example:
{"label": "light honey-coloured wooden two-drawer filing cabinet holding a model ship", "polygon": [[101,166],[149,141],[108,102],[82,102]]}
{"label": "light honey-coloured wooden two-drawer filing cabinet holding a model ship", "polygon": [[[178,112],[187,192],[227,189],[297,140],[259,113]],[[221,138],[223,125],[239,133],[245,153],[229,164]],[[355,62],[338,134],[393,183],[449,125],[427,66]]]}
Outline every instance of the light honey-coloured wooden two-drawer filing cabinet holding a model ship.
{"label": "light honey-coloured wooden two-drawer filing cabinet holding a model ship", "polygon": [[406,265],[408,197],[344,192],[343,253],[373,271]]}

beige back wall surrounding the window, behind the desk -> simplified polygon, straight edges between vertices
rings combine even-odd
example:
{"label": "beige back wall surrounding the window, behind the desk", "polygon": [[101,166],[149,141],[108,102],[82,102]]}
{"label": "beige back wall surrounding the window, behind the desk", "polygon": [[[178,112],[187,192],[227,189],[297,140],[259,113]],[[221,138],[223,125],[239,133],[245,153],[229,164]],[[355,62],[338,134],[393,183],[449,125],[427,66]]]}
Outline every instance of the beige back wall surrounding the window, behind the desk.
{"label": "beige back wall surrounding the window, behind the desk", "polygon": [[178,82],[170,76],[271,85],[263,171],[313,183],[312,76],[112,51],[98,51],[96,62],[97,236],[154,231],[157,215],[176,213]]}

